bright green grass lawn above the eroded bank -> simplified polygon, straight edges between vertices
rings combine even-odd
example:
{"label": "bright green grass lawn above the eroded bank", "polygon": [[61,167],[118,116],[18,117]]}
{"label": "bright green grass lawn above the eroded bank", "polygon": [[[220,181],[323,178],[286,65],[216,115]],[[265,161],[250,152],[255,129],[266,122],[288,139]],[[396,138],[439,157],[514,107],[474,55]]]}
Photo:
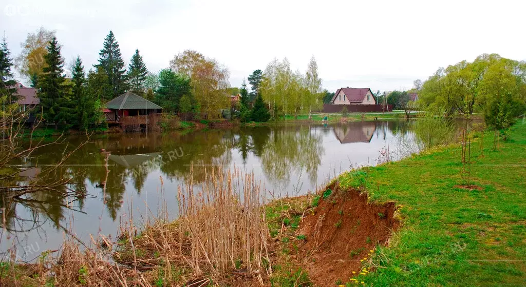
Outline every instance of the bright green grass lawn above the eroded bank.
{"label": "bright green grass lawn above the eroded bank", "polygon": [[[395,201],[402,225],[389,247],[377,248],[372,264],[379,267],[356,279],[366,286],[526,286],[526,124],[509,133],[498,151],[486,133],[483,157],[471,145],[471,176],[482,190],[455,187],[466,184],[460,146],[367,168],[371,200]],[[339,179],[356,181],[351,173]]]}

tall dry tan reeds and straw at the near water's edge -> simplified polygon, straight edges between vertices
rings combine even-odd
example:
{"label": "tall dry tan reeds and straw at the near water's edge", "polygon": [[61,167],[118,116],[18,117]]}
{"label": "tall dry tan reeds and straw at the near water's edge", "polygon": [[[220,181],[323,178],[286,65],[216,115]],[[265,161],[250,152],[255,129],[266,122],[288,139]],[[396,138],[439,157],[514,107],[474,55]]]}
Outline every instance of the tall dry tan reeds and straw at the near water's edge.
{"label": "tall dry tan reeds and straw at the near water's edge", "polygon": [[[209,275],[242,274],[263,284],[270,272],[263,189],[254,174],[205,170],[198,190],[193,180],[178,188],[179,218],[156,220],[140,236],[123,230],[126,243],[115,254],[121,263],[163,273],[175,283]],[[166,215],[166,210],[164,210]],[[160,279],[158,279],[160,280]],[[186,282],[185,282],[186,281]],[[199,284],[198,284],[199,285]]]}

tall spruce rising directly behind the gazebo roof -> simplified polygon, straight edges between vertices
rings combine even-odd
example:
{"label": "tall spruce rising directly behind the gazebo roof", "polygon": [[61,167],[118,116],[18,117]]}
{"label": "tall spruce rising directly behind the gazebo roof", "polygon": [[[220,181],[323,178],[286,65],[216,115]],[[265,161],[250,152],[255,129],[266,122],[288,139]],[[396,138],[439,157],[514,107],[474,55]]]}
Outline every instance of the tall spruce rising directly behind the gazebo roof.
{"label": "tall spruce rising directly behind the gazebo roof", "polygon": [[99,56],[99,63],[95,67],[102,67],[108,75],[108,84],[112,87],[113,97],[123,94],[127,90],[126,69],[113,31],[110,30],[108,36],[104,38],[104,48],[100,50]]}

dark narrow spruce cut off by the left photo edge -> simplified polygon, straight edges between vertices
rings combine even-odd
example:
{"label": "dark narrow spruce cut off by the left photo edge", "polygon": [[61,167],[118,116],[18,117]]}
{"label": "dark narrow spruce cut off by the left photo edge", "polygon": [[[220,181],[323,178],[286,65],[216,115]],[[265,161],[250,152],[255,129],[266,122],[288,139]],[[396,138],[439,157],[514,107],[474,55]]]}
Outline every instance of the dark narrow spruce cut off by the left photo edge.
{"label": "dark narrow spruce cut off by the left photo edge", "polygon": [[[7,39],[2,39],[0,45],[0,97],[2,101],[6,101],[7,104],[11,104],[16,101],[16,81],[14,80],[11,67],[13,67],[12,59],[9,58],[11,52],[7,48]],[[4,98],[5,97],[5,98]]]}

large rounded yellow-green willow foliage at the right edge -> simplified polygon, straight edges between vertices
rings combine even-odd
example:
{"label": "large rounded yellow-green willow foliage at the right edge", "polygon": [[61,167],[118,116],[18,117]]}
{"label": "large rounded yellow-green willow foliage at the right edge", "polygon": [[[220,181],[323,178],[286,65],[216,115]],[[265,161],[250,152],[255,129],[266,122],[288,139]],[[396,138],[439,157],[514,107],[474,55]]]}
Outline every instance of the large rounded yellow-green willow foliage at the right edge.
{"label": "large rounded yellow-green willow foliage at the right edge", "polygon": [[[439,68],[423,83],[419,101],[426,107],[440,108],[447,115],[459,112],[469,118],[477,111],[496,113],[499,104],[495,101],[505,101],[508,93],[511,101],[520,105],[526,103],[524,75],[526,65],[523,62],[497,54],[483,54],[473,62],[461,61],[446,69]],[[488,115],[489,118],[495,116]]]}

